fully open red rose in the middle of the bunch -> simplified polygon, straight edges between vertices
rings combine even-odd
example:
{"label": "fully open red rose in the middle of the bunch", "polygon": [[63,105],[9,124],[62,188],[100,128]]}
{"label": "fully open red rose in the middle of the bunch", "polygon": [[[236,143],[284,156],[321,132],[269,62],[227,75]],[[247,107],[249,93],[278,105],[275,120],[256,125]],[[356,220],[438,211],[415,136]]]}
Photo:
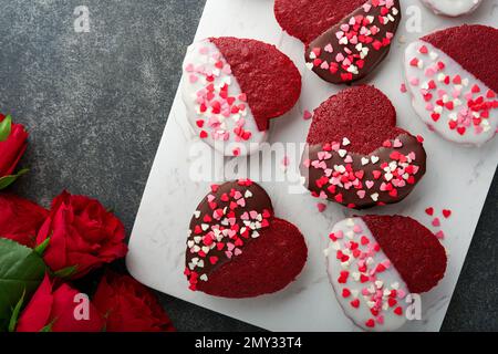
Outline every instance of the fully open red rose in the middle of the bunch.
{"label": "fully open red rose in the middle of the bunch", "polygon": [[37,244],[50,238],[43,259],[53,271],[73,269],[71,278],[122,258],[123,223],[95,199],[63,191],[52,201],[50,216],[37,236]]}

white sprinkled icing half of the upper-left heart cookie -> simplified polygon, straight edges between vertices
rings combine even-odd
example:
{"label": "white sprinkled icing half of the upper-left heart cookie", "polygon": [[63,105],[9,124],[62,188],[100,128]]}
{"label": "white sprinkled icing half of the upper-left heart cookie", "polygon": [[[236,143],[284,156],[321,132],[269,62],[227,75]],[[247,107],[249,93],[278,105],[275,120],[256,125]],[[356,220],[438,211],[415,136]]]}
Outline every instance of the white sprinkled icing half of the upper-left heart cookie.
{"label": "white sprinkled icing half of the upper-left heart cookie", "polygon": [[181,95],[199,138],[225,156],[252,154],[266,140],[230,65],[209,40],[188,48]]}

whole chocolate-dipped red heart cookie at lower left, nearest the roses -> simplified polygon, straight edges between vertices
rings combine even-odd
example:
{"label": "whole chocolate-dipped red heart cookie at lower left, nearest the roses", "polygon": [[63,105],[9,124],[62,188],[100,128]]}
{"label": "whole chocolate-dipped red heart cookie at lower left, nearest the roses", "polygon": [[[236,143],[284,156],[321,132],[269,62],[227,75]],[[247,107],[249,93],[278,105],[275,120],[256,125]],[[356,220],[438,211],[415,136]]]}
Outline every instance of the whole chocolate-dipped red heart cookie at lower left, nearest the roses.
{"label": "whole chocolate-dipped red heart cookie at lower left, nearest the roses", "polygon": [[211,186],[190,221],[185,274],[191,290],[253,298],[286,288],[308,258],[295,226],[273,215],[270,197],[239,179]]}

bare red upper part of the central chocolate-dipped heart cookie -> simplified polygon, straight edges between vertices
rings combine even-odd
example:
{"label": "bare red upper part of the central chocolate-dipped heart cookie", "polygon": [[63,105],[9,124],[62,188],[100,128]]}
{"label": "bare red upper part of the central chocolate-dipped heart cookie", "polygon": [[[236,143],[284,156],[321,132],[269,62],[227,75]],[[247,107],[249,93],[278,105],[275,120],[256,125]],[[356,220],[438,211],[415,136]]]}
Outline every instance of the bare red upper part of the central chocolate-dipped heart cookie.
{"label": "bare red upper part of the central chocolate-dipped heart cookie", "polygon": [[347,150],[367,155],[387,139],[408,134],[396,127],[390,98],[373,86],[355,86],[333,95],[314,111],[310,145],[351,140]]}

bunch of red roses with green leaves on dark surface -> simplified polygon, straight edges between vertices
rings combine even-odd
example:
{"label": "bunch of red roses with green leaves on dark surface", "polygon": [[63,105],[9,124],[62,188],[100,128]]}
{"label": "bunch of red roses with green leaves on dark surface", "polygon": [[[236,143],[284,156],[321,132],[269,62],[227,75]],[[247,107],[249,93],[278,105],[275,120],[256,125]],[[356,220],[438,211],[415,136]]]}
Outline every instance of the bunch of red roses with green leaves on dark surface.
{"label": "bunch of red roses with green leaves on dark surface", "polygon": [[[28,133],[0,114],[0,189],[15,173]],[[0,332],[174,331],[147,288],[107,270],[92,296],[74,280],[123,258],[123,223],[97,200],[63,191],[46,210],[0,191]]]}

